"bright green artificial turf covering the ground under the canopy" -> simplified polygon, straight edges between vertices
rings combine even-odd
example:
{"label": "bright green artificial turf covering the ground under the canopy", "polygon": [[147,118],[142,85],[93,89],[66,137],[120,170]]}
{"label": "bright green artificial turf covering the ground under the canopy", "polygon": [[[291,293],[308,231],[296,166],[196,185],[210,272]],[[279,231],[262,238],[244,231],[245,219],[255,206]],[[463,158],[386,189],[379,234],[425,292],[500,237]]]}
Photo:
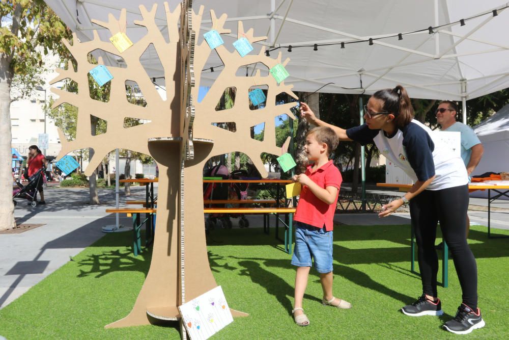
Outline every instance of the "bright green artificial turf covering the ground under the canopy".
{"label": "bright green artificial turf covering the ground under the canopy", "polygon": [[[267,236],[260,228],[213,231],[208,251],[214,277],[230,307],[249,313],[213,338],[457,337],[441,328],[461,302],[452,260],[449,287],[439,287],[443,317],[411,318],[399,311],[421,291],[419,276],[409,271],[409,234],[409,226],[336,226],[334,294],[353,307],[322,306],[319,278],[312,270],[303,306],[310,325],[298,327],[290,312],[295,269],[273,234]],[[122,246],[130,239],[130,233],[106,234],[0,310],[0,335],[10,340],[180,338],[176,323],[104,329],[129,313],[149,268],[148,251],[134,257]],[[508,242],[488,239],[486,227],[471,227],[469,243],[477,258],[479,307],[486,327],[470,338],[509,334]]]}

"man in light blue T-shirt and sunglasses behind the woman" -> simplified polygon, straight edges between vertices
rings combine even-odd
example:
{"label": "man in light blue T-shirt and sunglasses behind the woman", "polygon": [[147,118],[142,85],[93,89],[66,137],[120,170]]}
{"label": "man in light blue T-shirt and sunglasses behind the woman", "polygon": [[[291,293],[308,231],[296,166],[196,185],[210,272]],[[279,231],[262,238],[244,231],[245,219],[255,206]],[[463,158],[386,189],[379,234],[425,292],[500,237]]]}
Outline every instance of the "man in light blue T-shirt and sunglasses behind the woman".
{"label": "man in light blue T-shirt and sunglasses behind the woman", "polygon": [[[444,100],[438,105],[435,115],[442,131],[459,132],[461,134],[461,158],[470,178],[470,174],[483,156],[484,147],[470,126],[456,121],[457,113],[457,104],[454,101]],[[467,215],[467,237],[469,230],[470,219]]]}

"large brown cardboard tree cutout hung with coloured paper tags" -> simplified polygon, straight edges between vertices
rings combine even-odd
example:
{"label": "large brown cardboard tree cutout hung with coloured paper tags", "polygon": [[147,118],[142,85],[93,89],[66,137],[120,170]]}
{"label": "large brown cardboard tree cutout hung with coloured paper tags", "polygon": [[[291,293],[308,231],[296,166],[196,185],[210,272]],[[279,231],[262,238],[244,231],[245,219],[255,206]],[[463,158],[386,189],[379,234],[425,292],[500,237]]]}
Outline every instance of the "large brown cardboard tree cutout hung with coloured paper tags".
{"label": "large brown cardboard tree cutout hung with coloured paper tags", "polygon": [[[200,86],[201,72],[212,49],[207,41],[196,44],[196,33],[200,32],[203,6],[198,13],[191,9],[191,1],[183,2],[173,11],[164,4],[169,43],[155,23],[157,4],[149,11],[139,6],[143,20],[135,24],[146,27],[147,34],[132,46],[120,53],[114,44],[101,41],[94,31],[92,41],[80,42],[73,35],[73,44],[64,40],[77,62],[75,72],[71,63],[67,70],[57,69],[59,76],[52,83],[71,79],[78,84],[79,92],[69,93],[59,89],[52,91],[60,96],[53,107],[67,102],[78,107],[76,138],[67,141],[59,130],[62,151],[59,158],[70,151],[93,148],[94,156],[85,173],[90,175],[103,157],[116,148],[130,149],[150,154],[159,166],[159,189],[157,207],[157,226],[155,228],[152,261],[145,283],[132,311],[127,317],[106,327],[125,327],[145,325],[157,319],[179,320],[178,306],[217,286],[209,267],[203,214],[203,167],[211,156],[240,151],[249,156],[263,177],[267,172],[260,158],[262,152],[281,154],[276,146],[275,117],[287,114],[295,119],[290,108],[295,103],[276,107],[276,95],[286,92],[297,98],[291,91],[293,86],[277,83],[273,76],[261,76],[258,70],[254,76],[236,76],[239,67],[262,63],[269,69],[281,63],[265,56],[262,47],[258,55],[241,57],[237,50],[229,51],[224,44],[215,48],[224,63],[217,80],[205,98],[195,102]],[[230,33],[224,29],[227,15],[216,17],[210,11],[212,30],[219,34]],[[178,22],[181,28],[178,28]],[[108,15],[108,22],[93,22],[109,29],[111,36],[125,34],[126,10],[120,18]],[[116,36],[119,37],[120,35]],[[266,37],[253,37],[252,29],[244,32],[242,22],[238,22],[239,39],[246,38],[250,44]],[[157,93],[140,56],[152,44],[164,68],[167,100]],[[127,67],[108,67],[113,79],[108,102],[94,100],[88,93],[87,73],[96,65],[87,61],[87,55],[96,49],[121,56]],[[99,64],[103,64],[99,59]],[[147,106],[129,103],[126,98],[126,81],[134,81],[142,90]],[[268,86],[266,107],[261,110],[249,109],[249,88],[254,85]],[[232,109],[215,111],[225,88],[236,87],[235,105]],[[107,122],[106,133],[93,136],[90,129],[90,116]],[[150,120],[134,127],[124,127],[126,118]],[[228,131],[214,126],[217,122],[234,122],[236,131]],[[250,128],[265,123],[264,140],[250,137]],[[286,149],[290,138],[283,149]],[[234,316],[245,313],[232,310]],[[185,330],[181,328],[183,336]]]}

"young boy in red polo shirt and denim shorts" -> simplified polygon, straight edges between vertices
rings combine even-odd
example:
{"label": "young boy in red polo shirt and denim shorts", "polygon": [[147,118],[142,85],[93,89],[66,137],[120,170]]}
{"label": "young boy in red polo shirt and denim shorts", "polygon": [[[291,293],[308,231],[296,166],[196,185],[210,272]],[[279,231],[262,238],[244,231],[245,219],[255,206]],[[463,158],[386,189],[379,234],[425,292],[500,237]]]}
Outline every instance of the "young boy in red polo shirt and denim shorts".
{"label": "young boy in red polo shirt and denim shorts", "polygon": [[343,179],[340,171],[329,161],[329,154],[337,144],[337,136],[330,127],[319,126],[310,130],[304,150],[309,163],[313,164],[307,167],[305,173],[293,177],[302,185],[294,217],[295,248],[291,262],[297,266],[292,313],[299,326],[309,325],[302,309],[302,299],[313,263],[320,273],[322,304],[337,308],[352,307],[349,302],[332,295],[332,220]]}

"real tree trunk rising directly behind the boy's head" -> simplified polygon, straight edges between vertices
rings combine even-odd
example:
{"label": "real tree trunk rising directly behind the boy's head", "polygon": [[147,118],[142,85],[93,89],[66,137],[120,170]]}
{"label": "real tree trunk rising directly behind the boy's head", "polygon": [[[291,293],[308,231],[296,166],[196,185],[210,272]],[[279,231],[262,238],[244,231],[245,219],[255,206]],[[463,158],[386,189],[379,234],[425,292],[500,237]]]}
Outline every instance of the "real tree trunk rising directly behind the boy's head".
{"label": "real tree trunk rising directly behind the boy's head", "polygon": [[[300,101],[305,101],[309,108],[315,113],[317,118],[320,118],[320,94],[319,93],[309,93],[302,92],[300,93]],[[297,167],[295,169],[296,174],[304,173],[306,171],[307,166],[307,155],[304,152],[304,144],[306,141],[306,134],[310,128],[315,127],[310,126],[305,119],[301,119],[300,115],[298,115],[299,124],[297,125],[297,131],[295,132],[295,143],[297,144],[295,150],[295,163],[297,163]]]}

